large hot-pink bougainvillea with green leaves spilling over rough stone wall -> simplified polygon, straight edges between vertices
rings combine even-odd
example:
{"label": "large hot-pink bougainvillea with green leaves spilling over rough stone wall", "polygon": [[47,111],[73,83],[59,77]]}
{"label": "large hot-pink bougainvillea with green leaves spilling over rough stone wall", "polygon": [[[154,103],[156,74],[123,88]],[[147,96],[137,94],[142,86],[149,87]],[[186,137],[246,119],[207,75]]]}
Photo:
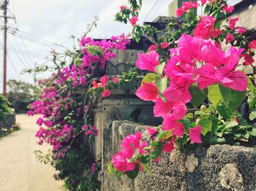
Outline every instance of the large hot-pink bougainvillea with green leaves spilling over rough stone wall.
{"label": "large hot-pink bougainvillea with green leaves spilling over rough stone wall", "polygon": [[[133,179],[138,171],[148,172],[146,163],[150,159],[159,162],[161,153],[171,152],[174,144],[179,149],[189,149],[202,143],[240,144],[244,139],[233,133],[242,129],[238,120],[241,115],[236,110],[244,101],[247,88],[252,94],[255,90],[251,79],[238,66],[243,59],[244,66],[254,62],[256,42],[249,42],[244,36],[246,30],[236,26],[238,17],[228,17],[234,7],[225,0],[203,0],[202,4],[206,4],[205,15],[195,17],[195,10],[191,9],[197,9],[197,1],[183,2],[176,11],[178,17],[185,14],[181,26],[176,26],[178,20],[173,19],[168,26],[173,35],[160,37],[148,52],[138,53],[135,65],[151,73],[143,78],[135,95],[153,101],[154,116],[162,117],[163,122],[157,128],[147,129],[151,139],[143,144],[143,152],[142,139],[135,139],[138,132],[124,138],[121,151],[113,155],[108,166],[118,176],[127,174]],[[137,38],[138,33],[134,33]],[[230,43],[225,50],[221,47],[223,42]],[[231,122],[232,127],[228,126]],[[248,135],[256,136],[252,126],[247,127]],[[231,132],[234,141],[229,143],[225,134],[230,136]]]}

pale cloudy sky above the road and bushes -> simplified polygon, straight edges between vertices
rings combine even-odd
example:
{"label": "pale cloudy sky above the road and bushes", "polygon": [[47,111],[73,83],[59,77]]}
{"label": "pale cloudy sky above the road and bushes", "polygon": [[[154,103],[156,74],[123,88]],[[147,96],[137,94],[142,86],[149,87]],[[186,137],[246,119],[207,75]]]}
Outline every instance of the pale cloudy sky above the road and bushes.
{"label": "pale cloudy sky above the road and bushes", "polygon": [[[140,23],[152,21],[158,16],[167,16],[170,2],[171,0],[144,0],[139,17]],[[18,79],[33,83],[33,74],[20,74],[20,71],[34,67],[34,63],[50,64],[47,63],[50,50],[64,50],[53,44],[72,47],[70,36],[79,38],[86,31],[88,23],[94,20],[94,16],[99,17],[99,21],[97,28],[94,28],[89,36],[108,38],[121,33],[129,34],[132,31],[130,25],[114,22],[114,16],[122,4],[127,4],[127,0],[10,0],[8,15],[15,16],[16,23],[13,19],[8,20],[9,32],[12,33],[18,28],[20,33],[7,34],[7,80]],[[3,26],[2,20],[0,26]],[[2,31],[0,32],[1,93],[3,39]],[[31,39],[34,41],[34,36],[48,43],[31,42]],[[41,74],[39,78],[48,75]]]}

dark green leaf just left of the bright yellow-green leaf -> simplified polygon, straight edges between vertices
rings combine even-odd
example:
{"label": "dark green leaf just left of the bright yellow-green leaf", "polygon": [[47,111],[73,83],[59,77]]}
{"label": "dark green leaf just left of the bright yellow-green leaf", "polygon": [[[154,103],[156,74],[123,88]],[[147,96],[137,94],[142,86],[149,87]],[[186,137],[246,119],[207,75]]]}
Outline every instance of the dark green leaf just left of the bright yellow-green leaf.
{"label": "dark green leaf just left of the bright yellow-green leaf", "polygon": [[200,90],[197,83],[194,83],[192,86],[189,87],[189,92],[192,95],[191,102],[195,107],[203,104],[203,101],[206,100],[208,95],[208,90]]}

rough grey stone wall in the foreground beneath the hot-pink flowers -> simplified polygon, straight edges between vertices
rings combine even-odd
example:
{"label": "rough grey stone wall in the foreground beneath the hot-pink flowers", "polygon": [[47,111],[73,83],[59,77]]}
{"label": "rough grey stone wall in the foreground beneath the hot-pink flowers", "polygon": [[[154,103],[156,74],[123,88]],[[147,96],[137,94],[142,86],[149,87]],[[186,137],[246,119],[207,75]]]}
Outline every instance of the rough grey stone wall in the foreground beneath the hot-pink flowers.
{"label": "rough grey stone wall in the foreground beneath the hot-pink flowers", "polygon": [[146,127],[129,121],[109,122],[102,144],[102,190],[256,190],[256,149],[229,145],[199,148],[195,157],[174,150],[161,162],[150,164],[151,176],[139,174],[134,181],[126,176],[121,181],[109,176],[107,163],[118,151],[121,139],[136,130],[142,130],[148,139]]}

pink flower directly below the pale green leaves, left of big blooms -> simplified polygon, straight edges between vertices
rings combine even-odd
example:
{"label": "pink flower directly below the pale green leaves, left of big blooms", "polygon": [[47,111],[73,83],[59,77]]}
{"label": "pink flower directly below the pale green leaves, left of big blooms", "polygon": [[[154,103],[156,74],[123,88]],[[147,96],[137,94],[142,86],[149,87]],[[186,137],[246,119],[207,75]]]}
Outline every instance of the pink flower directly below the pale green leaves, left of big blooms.
{"label": "pink flower directly below the pale green leaves, left of big blooms", "polygon": [[143,82],[143,85],[139,87],[135,95],[144,101],[154,101],[158,97],[157,86],[154,83]]}

